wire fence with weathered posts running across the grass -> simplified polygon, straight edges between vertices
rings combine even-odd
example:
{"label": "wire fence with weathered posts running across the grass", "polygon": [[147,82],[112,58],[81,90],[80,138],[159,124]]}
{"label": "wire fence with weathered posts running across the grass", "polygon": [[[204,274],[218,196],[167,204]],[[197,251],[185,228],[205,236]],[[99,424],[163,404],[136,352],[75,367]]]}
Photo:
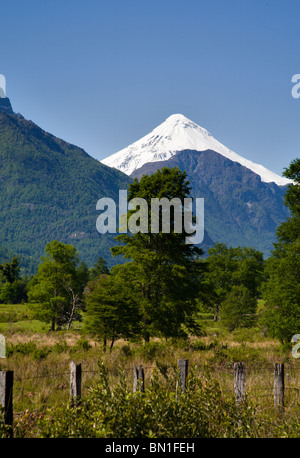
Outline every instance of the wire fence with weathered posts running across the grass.
{"label": "wire fence with weathered posts running across the grass", "polygon": [[[40,396],[40,407],[45,407],[49,402],[49,396],[41,394],[41,381],[44,380],[50,388],[50,396],[53,392],[60,391],[63,398],[71,402],[80,400],[85,390],[95,385],[99,380],[99,359],[89,360],[83,363],[65,361],[53,367],[42,366],[32,371],[31,374],[22,374],[16,370],[0,371],[0,405],[4,411],[4,420],[7,425],[13,424],[14,400],[17,403],[27,398],[28,401]],[[204,374],[204,368],[197,366],[199,374]],[[229,367],[219,368],[219,386],[224,396],[233,396],[240,403],[245,398],[263,400],[269,406],[273,405],[276,410],[287,410],[291,406],[300,405],[300,367],[279,363],[270,367],[253,369],[251,365],[246,371],[245,363],[236,362]],[[120,367],[106,368],[107,376],[112,384],[116,384],[123,374],[129,389],[133,391],[145,391],[150,388],[150,380],[153,371],[162,376],[167,389],[176,393],[184,392],[190,372],[189,360],[178,360],[174,364],[132,364]],[[259,382],[258,382],[259,377]],[[299,383],[299,385],[297,385]],[[131,388],[130,388],[131,387]],[[265,404],[260,406],[263,410]]]}

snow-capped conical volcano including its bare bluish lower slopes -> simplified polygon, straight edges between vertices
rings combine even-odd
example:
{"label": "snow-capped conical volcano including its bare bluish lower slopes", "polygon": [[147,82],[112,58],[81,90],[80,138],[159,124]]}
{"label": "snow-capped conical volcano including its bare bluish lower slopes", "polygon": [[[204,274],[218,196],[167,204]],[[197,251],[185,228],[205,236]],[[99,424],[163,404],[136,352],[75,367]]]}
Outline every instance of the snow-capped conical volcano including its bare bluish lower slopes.
{"label": "snow-capped conical volcano including its bare bluish lower slopes", "polygon": [[182,114],[102,162],[138,179],[163,167],[186,171],[191,197],[204,198],[205,230],[213,242],[268,256],[278,225],[289,216],[283,202],[290,180],[231,151]]}

